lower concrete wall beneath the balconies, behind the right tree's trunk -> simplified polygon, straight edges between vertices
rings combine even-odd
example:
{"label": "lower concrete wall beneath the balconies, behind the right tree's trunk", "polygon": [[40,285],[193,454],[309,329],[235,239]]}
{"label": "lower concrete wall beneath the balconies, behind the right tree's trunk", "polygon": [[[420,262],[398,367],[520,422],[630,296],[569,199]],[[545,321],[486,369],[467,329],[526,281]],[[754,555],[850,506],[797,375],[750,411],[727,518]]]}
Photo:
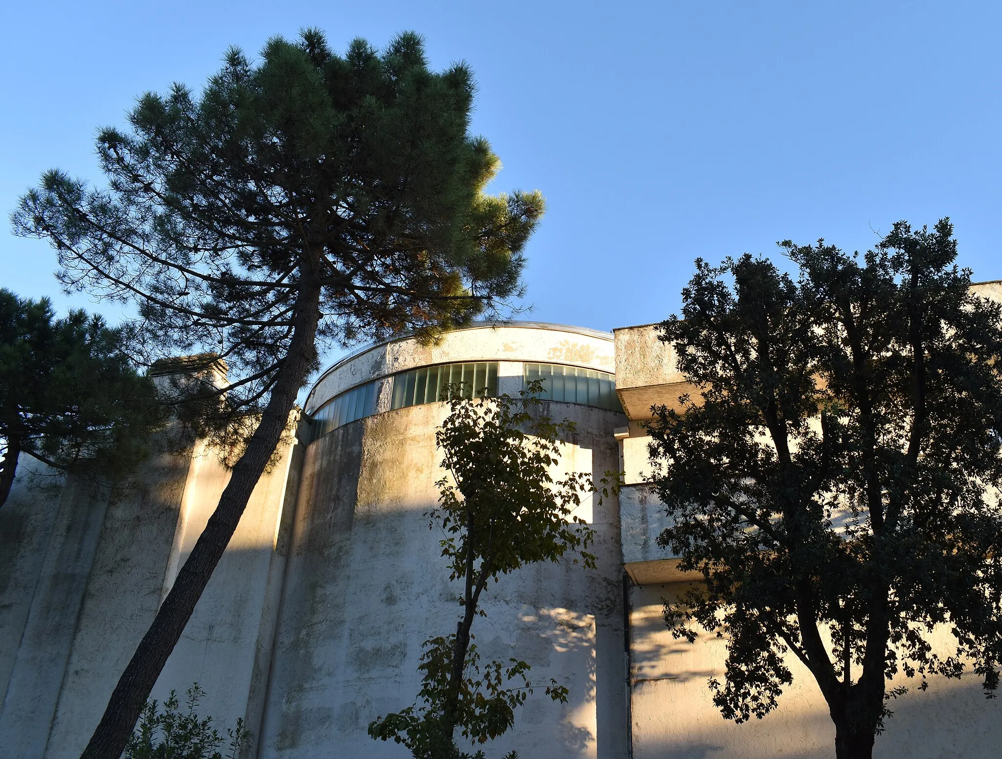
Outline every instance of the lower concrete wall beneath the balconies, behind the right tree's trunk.
{"label": "lower concrete wall beneath the balconies, behind the right tree's trunk", "polygon": [[[722,680],[724,643],[703,634],[694,643],[674,640],[662,606],[684,585],[630,591],[631,729],[635,759],[822,759],[835,754],[835,728],[814,678],[792,655],[794,684],[779,708],[763,720],[736,725],[712,704],[707,680]],[[948,651],[948,638],[934,635]],[[899,677],[894,685],[911,686]],[[934,678],[926,693],[914,691],[889,704],[894,716],[877,737],[874,756],[989,757],[1002,741],[1002,707],[987,701],[975,677],[960,682]]]}

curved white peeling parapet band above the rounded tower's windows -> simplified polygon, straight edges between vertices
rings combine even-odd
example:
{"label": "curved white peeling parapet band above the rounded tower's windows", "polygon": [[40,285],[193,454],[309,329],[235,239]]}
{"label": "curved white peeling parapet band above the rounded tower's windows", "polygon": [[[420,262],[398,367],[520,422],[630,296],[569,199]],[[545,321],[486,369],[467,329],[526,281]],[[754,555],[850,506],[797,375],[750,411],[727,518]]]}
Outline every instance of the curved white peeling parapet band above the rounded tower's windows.
{"label": "curved white peeling parapet band above the rounded tower's windows", "polygon": [[[612,336],[607,333],[531,322],[512,322],[504,327],[476,326],[450,332],[432,345],[401,339],[373,346],[322,375],[311,390],[305,409],[313,413],[339,393],[378,377],[420,366],[463,361],[530,361],[615,371]],[[521,372],[521,367],[517,368]]]}

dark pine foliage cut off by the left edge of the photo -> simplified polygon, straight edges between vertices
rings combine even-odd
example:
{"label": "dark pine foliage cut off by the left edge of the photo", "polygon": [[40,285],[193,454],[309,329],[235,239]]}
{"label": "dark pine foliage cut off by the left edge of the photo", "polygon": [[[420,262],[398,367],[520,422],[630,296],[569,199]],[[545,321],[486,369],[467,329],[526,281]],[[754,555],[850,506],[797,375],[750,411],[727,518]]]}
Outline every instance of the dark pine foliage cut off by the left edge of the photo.
{"label": "dark pine foliage cut off by the left edge of the photo", "polygon": [[56,319],[47,298],[0,289],[0,505],[22,453],[117,488],[163,421],[120,330],[83,311]]}

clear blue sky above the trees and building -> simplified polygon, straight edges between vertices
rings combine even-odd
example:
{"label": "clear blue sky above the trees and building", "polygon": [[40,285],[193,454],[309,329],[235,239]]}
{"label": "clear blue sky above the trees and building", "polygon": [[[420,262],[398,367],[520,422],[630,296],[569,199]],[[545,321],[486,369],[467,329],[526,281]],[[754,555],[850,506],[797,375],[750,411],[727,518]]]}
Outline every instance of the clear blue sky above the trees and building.
{"label": "clear blue sky above the trees and building", "polygon": [[[474,129],[539,188],[524,318],[657,321],[701,256],[866,249],[899,219],[956,224],[961,263],[1002,278],[1002,4],[969,2],[5,3],[0,207],[39,173],[99,179],[98,126],[144,90],[197,87],[235,44],[325,29],[343,49],[423,34],[465,59]],[[0,285],[69,300],[44,243],[0,232]]]}

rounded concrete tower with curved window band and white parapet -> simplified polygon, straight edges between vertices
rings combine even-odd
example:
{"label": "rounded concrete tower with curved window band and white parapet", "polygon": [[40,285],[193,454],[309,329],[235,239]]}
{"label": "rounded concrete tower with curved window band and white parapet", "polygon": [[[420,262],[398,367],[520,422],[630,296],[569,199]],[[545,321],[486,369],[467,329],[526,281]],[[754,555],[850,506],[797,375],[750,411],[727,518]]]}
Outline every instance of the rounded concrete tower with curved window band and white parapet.
{"label": "rounded concrete tower with curved window band and white parapet", "polygon": [[[455,632],[461,611],[426,516],[443,473],[439,389],[515,394],[544,379],[550,415],[576,423],[560,466],[597,479],[619,468],[613,428],[626,423],[613,371],[611,335],[515,322],[373,346],[318,380],[260,756],[408,755],[366,729],[414,703],[423,641]],[[517,657],[533,683],[570,689],[565,705],[537,691],[488,756],[627,756],[618,503],[589,500],[579,515],[597,533],[598,568],[566,560],[502,578],[474,624],[484,662]]]}

